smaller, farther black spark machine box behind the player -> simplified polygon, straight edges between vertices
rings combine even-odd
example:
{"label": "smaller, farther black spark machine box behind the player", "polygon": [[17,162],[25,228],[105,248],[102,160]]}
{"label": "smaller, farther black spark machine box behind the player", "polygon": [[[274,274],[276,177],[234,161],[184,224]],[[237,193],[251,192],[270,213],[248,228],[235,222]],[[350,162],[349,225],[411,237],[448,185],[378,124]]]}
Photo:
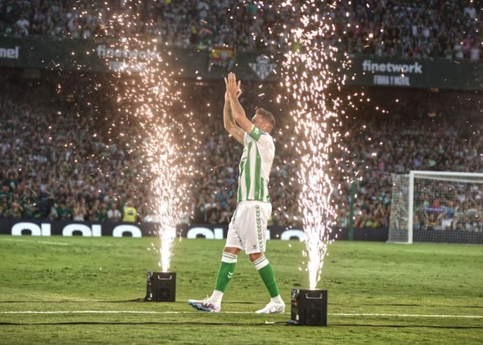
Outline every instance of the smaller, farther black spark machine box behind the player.
{"label": "smaller, farther black spark machine box behind the player", "polygon": [[150,272],[146,275],[145,301],[175,302],[176,273]]}

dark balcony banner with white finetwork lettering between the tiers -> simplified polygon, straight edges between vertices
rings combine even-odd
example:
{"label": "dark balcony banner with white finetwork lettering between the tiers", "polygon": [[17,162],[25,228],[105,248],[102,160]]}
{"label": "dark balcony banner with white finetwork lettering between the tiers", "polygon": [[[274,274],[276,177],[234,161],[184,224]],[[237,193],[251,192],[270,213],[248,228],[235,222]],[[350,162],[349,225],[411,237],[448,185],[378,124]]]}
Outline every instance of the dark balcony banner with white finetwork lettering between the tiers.
{"label": "dark balcony banner with white finetwork lettering between the tiers", "polygon": [[[195,48],[159,45],[152,51],[117,41],[0,38],[0,67],[139,72],[152,59],[162,61],[179,77],[193,79],[219,79],[228,70],[256,81],[277,81],[282,75],[282,63],[257,52],[230,55],[230,61],[220,66],[212,52]],[[349,85],[483,90],[482,61],[364,55],[351,61],[345,70]]]}

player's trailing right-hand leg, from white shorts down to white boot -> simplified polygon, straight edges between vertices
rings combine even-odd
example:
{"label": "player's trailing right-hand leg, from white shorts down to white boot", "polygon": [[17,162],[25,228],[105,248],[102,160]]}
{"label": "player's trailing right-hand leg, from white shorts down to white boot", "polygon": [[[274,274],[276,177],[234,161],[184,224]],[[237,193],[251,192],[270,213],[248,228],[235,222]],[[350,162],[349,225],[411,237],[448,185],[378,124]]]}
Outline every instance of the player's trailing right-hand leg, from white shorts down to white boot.
{"label": "player's trailing right-hand leg, from white shorts down to white boot", "polygon": [[245,218],[246,230],[246,253],[250,255],[250,261],[258,270],[260,277],[270,294],[270,302],[265,308],[255,313],[284,313],[285,304],[280,297],[275,273],[272,265],[264,255],[266,247],[266,226],[271,213],[270,204],[255,204],[251,209],[253,215]]}

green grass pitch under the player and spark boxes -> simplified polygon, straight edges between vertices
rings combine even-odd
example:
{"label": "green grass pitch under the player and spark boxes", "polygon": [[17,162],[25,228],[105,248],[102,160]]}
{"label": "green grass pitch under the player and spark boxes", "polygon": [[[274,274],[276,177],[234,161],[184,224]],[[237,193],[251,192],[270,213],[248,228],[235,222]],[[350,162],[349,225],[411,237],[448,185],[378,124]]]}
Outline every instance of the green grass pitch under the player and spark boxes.
{"label": "green grass pitch under the player and spark boxes", "polygon": [[272,240],[267,257],[287,304],[268,302],[239,255],[221,313],[195,311],[211,293],[224,241],[181,239],[173,248],[176,302],[139,302],[146,271],[159,271],[157,238],[0,236],[0,343],[388,344],[483,342],[483,246],[335,242],[318,288],[328,326],[288,326],[291,288],[307,288],[300,242]]}

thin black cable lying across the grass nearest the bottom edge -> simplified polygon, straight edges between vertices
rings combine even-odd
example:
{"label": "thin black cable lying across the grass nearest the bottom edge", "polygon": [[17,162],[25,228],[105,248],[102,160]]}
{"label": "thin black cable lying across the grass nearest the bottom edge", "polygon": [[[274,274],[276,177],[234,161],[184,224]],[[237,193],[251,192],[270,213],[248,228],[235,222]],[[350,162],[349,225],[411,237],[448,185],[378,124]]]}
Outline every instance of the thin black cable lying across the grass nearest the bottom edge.
{"label": "thin black cable lying across the grass nearest the bottom edge", "polygon": [[[0,326],[126,326],[126,325],[158,325],[158,326],[290,326],[286,322],[0,322]],[[298,326],[302,327],[302,326]],[[313,328],[314,326],[306,326]],[[442,328],[442,329],[483,329],[483,326],[439,326],[424,324],[329,324],[328,327],[384,327],[384,328]]]}

